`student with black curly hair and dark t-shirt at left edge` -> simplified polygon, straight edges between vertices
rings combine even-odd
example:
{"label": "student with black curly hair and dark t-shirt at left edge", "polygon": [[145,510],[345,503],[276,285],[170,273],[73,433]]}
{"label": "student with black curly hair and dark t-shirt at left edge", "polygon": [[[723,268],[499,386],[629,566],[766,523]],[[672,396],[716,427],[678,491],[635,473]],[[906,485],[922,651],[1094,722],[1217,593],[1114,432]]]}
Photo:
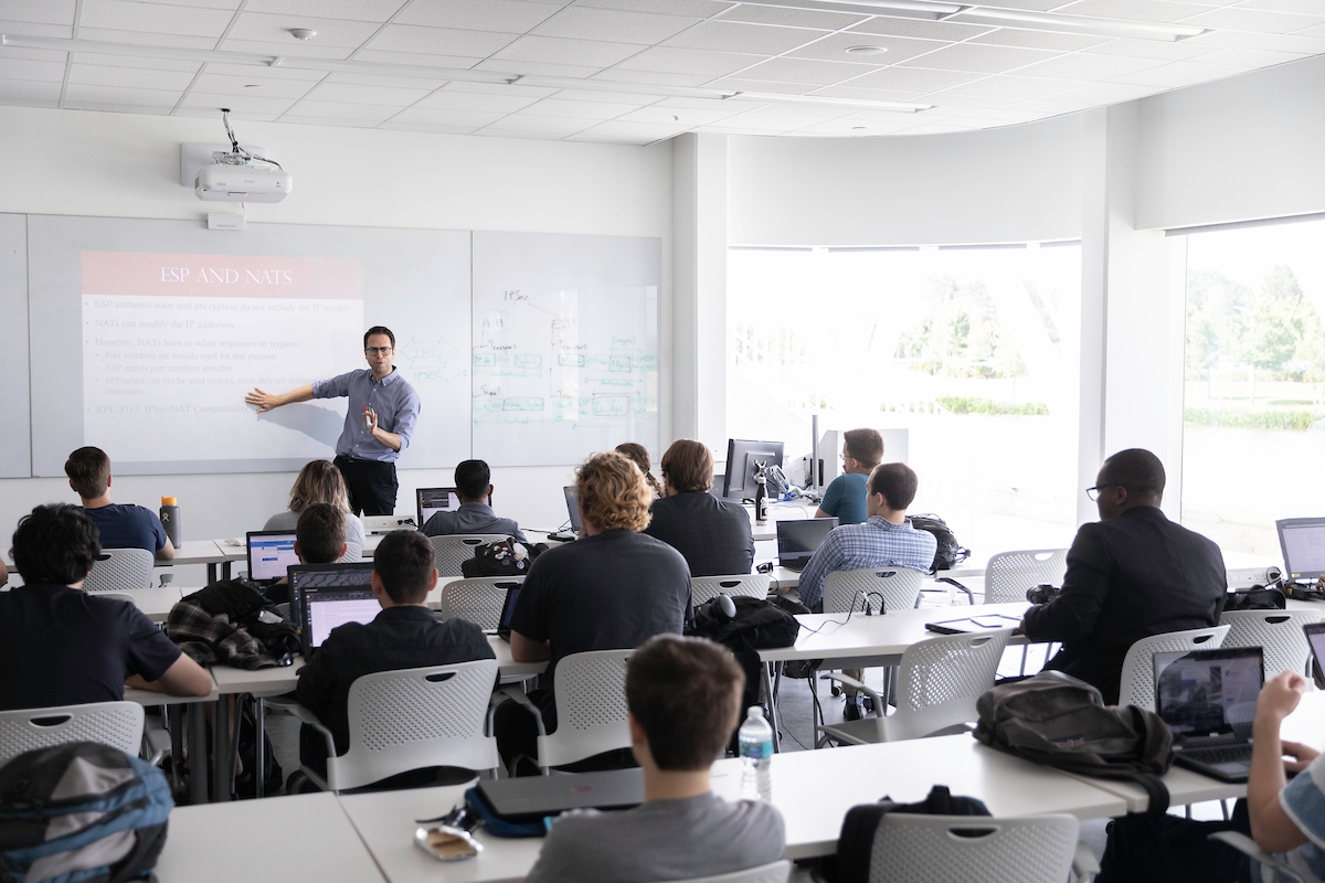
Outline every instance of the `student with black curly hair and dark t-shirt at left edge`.
{"label": "student with black curly hair and dark t-shirt at left edge", "polygon": [[77,506],[38,506],[13,532],[24,585],[0,592],[0,711],[118,702],[125,686],[205,696],[212,675],[131,601],[82,590],[101,555]]}

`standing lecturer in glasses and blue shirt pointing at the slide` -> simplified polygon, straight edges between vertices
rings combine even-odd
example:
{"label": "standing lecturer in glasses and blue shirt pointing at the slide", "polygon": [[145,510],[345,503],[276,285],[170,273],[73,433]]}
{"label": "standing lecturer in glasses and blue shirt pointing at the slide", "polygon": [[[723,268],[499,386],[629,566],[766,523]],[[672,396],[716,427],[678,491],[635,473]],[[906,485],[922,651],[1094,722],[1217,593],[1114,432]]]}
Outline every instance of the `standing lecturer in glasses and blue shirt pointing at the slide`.
{"label": "standing lecturer in glasses and blue shirt pointing at the slide", "polygon": [[350,491],[355,515],[391,515],[396,508],[396,459],[409,446],[419,422],[419,393],[395,369],[396,335],[374,326],[363,335],[368,368],[317,380],[273,396],[261,389],[244,396],[264,413],[311,398],[350,398],[344,429],[335,443],[335,465]]}

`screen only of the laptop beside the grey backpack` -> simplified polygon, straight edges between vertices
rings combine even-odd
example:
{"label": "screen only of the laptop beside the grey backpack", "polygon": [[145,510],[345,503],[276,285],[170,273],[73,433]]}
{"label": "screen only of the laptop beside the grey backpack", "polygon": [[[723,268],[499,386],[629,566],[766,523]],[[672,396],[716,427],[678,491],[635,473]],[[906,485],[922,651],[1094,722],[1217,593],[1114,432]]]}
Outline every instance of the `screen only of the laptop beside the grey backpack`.
{"label": "screen only of the laptop beside the grey backpack", "polygon": [[1175,736],[1251,733],[1265,682],[1260,647],[1157,653],[1155,702]]}

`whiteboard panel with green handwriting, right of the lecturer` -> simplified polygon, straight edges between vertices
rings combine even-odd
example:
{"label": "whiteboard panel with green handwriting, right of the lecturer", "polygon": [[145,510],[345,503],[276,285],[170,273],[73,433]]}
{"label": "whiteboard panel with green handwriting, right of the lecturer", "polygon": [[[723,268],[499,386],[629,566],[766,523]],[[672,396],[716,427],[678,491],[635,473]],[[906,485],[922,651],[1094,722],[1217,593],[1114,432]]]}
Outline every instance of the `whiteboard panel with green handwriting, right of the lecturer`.
{"label": "whiteboard panel with green handwriting, right of the lecturer", "polygon": [[662,241],[473,234],[473,451],[566,466],[659,449]]}

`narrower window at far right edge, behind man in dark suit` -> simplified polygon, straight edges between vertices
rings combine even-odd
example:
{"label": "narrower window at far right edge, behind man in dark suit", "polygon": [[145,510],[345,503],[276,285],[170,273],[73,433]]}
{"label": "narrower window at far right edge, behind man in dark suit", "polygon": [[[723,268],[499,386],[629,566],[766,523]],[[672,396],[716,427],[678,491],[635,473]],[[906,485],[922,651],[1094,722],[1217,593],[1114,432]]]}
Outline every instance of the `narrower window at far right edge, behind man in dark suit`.
{"label": "narrower window at far right edge, behind man in dark suit", "polygon": [[1325,514],[1325,221],[1187,237],[1182,522],[1279,559]]}

